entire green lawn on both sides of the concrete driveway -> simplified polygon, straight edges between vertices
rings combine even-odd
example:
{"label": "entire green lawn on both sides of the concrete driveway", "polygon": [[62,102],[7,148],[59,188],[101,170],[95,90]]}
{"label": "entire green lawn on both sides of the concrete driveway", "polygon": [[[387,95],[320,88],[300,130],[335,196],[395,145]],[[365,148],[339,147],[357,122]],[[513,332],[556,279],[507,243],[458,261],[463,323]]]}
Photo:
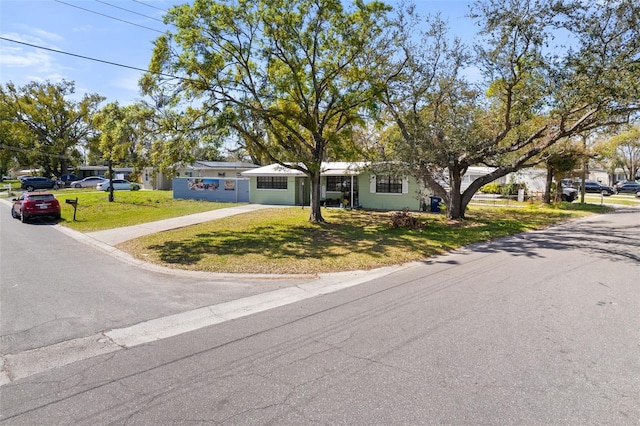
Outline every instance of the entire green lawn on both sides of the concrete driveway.
{"label": "entire green lawn on both sides of the concrete driveway", "polygon": [[[236,204],[174,200],[172,191],[117,191],[114,202],[94,189],[53,191],[62,205],[61,225],[92,232]],[[65,200],[78,198],[76,220]],[[604,202],[637,204],[632,196]],[[425,259],[471,243],[602,213],[600,197],[587,204],[543,206],[510,202],[507,207],[472,205],[467,218],[411,213],[420,229],[392,226],[390,212],[323,209],[326,223],[309,223],[309,210],[268,209],[162,232],[119,246],[134,257],[168,267],[215,272],[320,273],[372,269]]]}

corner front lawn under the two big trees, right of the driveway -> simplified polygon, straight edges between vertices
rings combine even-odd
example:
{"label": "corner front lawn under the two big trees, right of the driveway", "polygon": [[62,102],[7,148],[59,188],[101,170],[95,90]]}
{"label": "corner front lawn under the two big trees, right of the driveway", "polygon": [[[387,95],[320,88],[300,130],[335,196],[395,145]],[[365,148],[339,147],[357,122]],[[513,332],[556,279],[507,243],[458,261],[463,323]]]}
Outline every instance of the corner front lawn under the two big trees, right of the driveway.
{"label": "corner front lawn under the two big trees, right of the driveway", "polygon": [[551,224],[606,207],[561,203],[526,208],[471,207],[465,220],[411,213],[421,230],[394,228],[391,213],[323,209],[322,224],[309,210],[267,209],[162,232],[118,246],[136,258],[208,272],[315,274],[368,270],[422,260],[471,243]]}

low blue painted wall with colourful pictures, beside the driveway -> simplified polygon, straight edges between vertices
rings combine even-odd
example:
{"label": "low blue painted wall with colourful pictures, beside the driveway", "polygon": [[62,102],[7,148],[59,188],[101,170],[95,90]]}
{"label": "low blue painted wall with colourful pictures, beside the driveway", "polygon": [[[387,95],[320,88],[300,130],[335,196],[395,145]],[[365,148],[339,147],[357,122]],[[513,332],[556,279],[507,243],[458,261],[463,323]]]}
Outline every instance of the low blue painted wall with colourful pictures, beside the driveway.
{"label": "low blue painted wall with colourful pictures, beside the driveway", "polygon": [[173,179],[173,198],[248,203],[249,179],[190,177]]}

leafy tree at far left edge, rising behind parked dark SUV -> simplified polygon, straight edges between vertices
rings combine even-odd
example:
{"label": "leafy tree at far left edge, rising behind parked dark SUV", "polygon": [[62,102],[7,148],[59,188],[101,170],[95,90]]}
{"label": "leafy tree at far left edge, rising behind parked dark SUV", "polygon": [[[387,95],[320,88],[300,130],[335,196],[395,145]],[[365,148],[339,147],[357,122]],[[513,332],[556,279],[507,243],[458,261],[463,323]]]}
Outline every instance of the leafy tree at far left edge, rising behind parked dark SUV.
{"label": "leafy tree at far left edge, rising behind parked dark SUV", "polygon": [[79,147],[92,137],[91,114],[103,97],[86,94],[74,99],[73,82],[31,82],[24,87],[7,83],[0,90],[3,151],[20,164],[61,176],[81,158]]}

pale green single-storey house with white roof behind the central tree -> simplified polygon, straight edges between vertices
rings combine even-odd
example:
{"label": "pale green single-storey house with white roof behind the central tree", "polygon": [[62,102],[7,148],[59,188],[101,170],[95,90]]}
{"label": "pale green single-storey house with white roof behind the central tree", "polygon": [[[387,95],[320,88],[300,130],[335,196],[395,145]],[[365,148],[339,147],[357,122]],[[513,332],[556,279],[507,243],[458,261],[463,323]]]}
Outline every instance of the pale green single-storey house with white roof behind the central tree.
{"label": "pale green single-storey house with white roof behind the central tree", "polygon": [[[271,164],[242,173],[256,204],[309,205],[310,182],[301,171]],[[321,202],[375,210],[420,209],[420,185],[411,178],[376,173],[366,163],[326,162],[321,170]]]}

